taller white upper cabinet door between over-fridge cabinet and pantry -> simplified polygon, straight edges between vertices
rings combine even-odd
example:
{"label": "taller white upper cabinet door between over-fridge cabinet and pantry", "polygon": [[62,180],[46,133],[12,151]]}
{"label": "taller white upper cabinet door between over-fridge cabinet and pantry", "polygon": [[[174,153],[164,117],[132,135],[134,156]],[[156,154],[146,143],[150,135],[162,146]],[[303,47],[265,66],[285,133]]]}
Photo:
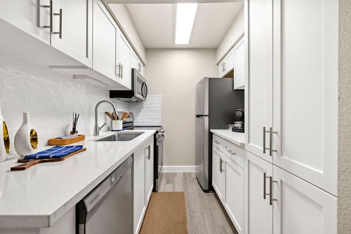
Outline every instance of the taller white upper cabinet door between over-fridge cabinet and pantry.
{"label": "taller white upper cabinet door between over-fridge cabinet and pantry", "polygon": [[245,41],[242,38],[234,47],[234,90],[245,87]]}

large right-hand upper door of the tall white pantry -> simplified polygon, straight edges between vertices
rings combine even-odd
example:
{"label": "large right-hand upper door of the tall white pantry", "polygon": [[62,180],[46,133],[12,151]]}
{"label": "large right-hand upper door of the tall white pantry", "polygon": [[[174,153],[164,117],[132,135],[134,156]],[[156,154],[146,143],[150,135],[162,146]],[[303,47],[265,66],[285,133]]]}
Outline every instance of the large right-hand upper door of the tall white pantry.
{"label": "large right-hand upper door of the tall white pantry", "polygon": [[338,1],[275,0],[274,18],[273,162],[336,195]]}

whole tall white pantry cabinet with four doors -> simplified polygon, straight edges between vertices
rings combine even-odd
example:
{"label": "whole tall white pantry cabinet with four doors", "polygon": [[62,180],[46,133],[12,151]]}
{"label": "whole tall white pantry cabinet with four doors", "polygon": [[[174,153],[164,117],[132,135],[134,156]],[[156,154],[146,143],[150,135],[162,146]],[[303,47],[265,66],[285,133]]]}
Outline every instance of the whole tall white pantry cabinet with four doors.
{"label": "whole tall white pantry cabinet with four doors", "polygon": [[245,7],[245,232],[336,233],[338,1]]}

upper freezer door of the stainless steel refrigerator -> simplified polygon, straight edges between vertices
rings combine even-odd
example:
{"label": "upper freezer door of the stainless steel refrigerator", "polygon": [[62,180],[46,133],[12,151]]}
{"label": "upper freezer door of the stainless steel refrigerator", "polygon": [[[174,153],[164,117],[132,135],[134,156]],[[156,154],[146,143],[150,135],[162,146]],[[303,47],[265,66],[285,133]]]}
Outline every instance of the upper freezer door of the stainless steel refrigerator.
{"label": "upper freezer door of the stainless steel refrigerator", "polygon": [[208,78],[201,79],[196,85],[195,113],[208,114]]}

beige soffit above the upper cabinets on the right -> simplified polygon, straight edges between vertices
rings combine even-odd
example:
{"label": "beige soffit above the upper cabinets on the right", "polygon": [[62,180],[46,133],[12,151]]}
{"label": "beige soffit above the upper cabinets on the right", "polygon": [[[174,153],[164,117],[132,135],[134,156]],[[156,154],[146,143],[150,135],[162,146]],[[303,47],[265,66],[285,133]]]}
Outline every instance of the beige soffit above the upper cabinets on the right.
{"label": "beige soffit above the upper cabinets on the right", "polygon": [[223,36],[217,47],[215,62],[218,64],[228,51],[244,36],[244,7],[241,8],[233,23],[229,26],[227,33]]}

